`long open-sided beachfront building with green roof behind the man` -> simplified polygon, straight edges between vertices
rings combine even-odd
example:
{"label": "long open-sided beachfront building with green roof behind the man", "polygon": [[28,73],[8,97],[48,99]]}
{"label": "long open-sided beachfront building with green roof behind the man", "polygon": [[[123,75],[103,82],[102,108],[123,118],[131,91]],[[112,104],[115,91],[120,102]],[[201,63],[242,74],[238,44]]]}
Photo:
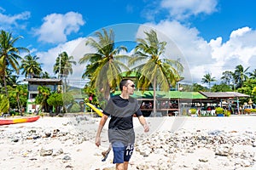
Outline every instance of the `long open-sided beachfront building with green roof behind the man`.
{"label": "long open-sided beachfront building with green roof behind the man", "polygon": [[[153,105],[153,91],[135,91],[132,97],[136,98],[141,105],[143,116],[151,115]],[[112,95],[119,95],[120,91],[115,91]],[[234,111],[239,108],[239,98],[247,98],[247,94],[237,92],[156,92],[156,115],[154,116],[187,116],[191,108],[196,109],[201,115],[215,115],[214,108],[232,107]],[[234,104],[234,101],[236,103]],[[239,110],[238,110],[239,111]],[[239,112],[234,112],[238,114]]]}

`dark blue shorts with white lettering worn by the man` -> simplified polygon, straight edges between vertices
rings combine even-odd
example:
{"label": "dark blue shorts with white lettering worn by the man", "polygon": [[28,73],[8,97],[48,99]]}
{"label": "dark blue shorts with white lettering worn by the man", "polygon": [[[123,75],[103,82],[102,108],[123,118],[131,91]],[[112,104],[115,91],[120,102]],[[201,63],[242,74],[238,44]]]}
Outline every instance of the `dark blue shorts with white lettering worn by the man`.
{"label": "dark blue shorts with white lettering worn by the man", "polygon": [[113,163],[124,163],[130,161],[134,149],[134,144],[124,145],[120,142],[112,144],[113,148]]}

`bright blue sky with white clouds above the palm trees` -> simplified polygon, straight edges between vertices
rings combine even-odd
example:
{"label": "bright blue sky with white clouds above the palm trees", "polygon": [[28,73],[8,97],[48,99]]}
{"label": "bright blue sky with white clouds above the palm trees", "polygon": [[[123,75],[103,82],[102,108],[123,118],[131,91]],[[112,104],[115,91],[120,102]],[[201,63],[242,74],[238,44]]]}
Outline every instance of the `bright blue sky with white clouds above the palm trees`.
{"label": "bright blue sky with white clouds above the palm trees", "polygon": [[[95,31],[112,28],[116,41],[131,50],[145,29],[154,28],[175,43],[187,82],[201,82],[206,73],[219,79],[240,64],[256,69],[255,5],[253,0],[2,0],[0,29],[22,36],[17,46],[29,48],[54,76],[57,55],[67,51],[79,60],[93,50],[84,41]],[[79,83],[84,65],[73,70],[70,80]]]}

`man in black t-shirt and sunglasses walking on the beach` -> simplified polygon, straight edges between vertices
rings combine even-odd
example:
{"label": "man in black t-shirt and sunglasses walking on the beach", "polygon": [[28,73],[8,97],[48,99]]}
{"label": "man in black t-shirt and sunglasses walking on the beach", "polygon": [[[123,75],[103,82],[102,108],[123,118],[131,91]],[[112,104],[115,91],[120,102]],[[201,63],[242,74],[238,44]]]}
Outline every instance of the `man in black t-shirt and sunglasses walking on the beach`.
{"label": "man in black t-shirt and sunglasses walking on the beach", "polygon": [[101,145],[102,128],[108,124],[108,139],[113,147],[113,163],[116,169],[128,169],[128,164],[134,150],[135,133],[133,129],[133,114],[136,114],[139,122],[144,127],[144,132],[149,131],[148,124],[140,111],[137,99],[131,98],[135,85],[129,79],[119,83],[120,95],[113,96],[108,100],[108,105],[103,111],[103,116],[96,133],[96,146]]}

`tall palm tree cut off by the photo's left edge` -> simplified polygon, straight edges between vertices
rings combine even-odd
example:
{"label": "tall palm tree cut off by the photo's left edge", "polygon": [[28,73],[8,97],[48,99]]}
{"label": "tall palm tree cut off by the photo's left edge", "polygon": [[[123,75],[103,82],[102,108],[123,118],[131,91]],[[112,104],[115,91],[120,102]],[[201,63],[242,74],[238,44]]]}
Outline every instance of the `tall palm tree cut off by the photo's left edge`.
{"label": "tall palm tree cut off by the photo's left edge", "polygon": [[12,37],[12,34],[6,31],[0,33],[0,65],[3,78],[3,84],[5,88],[6,96],[8,97],[7,83],[6,83],[6,69],[12,67],[17,74],[19,74],[19,62],[17,59],[21,59],[20,52],[27,51],[27,48],[15,48],[15,42],[20,37]]}

